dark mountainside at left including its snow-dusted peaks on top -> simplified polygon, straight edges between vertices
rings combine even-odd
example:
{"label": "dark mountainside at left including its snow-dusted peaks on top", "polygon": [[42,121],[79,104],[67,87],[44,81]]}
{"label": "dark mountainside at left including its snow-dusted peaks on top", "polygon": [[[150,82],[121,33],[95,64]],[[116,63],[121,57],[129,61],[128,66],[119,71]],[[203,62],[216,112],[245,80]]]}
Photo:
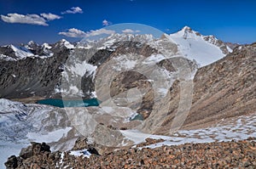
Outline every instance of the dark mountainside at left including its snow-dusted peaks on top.
{"label": "dark mountainside at left including its snow-dusted peaks on top", "polygon": [[[27,98],[50,97],[61,81],[63,63],[70,54],[63,40],[52,46],[39,46],[29,42],[20,49],[14,46],[1,47],[6,58],[0,59],[0,97]],[[26,51],[25,51],[25,49]]]}

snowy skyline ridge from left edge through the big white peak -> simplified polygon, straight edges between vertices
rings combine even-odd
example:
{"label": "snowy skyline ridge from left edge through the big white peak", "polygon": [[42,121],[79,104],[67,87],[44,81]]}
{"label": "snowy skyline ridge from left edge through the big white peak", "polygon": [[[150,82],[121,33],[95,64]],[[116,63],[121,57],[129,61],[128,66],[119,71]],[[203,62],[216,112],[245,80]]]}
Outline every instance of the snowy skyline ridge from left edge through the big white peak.
{"label": "snowy skyline ridge from left edge through the big white peak", "polygon": [[[51,57],[54,55],[55,51],[60,51],[60,49],[67,48],[73,50],[78,49],[90,49],[95,48],[98,50],[107,49],[115,50],[118,48],[119,42],[132,41],[132,42],[142,42],[149,46],[155,47],[169,41],[172,44],[177,45],[177,54],[183,55],[183,57],[190,60],[194,60],[198,65],[204,66],[212,64],[212,62],[222,59],[226,54],[232,52],[224,42],[218,40],[218,38],[210,35],[201,35],[198,31],[193,31],[189,26],[184,26],[181,31],[167,35],[164,34],[160,38],[155,38],[151,34],[119,34],[114,33],[108,37],[101,38],[99,40],[83,39],[80,42],[71,43],[65,39],[61,39],[55,44],[44,43],[43,45],[38,45],[36,42],[28,42],[26,45],[21,45],[17,48],[10,45],[9,48],[13,54],[2,54],[0,59],[3,60],[17,60],[26,59],[26,57],[40,57],[42,59]],[[3,48],[3,47],[0,47]],[[4,48],[8,48],[7,46]],[[163,46],[167,50],[168,46]],[[38,52],[39,51],[39,52]],[[39,53],[39,55],[35,54]],[[1,50],[0,50],[1,54]],[[43,55],[42,55],[43,54]],[[15,57],[13,56],[15,55]],[[7,57],[6,57],[7,56]]]}

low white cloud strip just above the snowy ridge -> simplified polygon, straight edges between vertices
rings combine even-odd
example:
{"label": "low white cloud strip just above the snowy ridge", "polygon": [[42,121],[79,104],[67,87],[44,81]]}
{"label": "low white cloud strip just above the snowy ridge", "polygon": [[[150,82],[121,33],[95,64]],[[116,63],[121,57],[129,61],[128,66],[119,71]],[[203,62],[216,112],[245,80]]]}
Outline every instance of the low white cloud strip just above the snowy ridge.
{"label": "low white cloud strip just above the snowy ridge", "polygon": [[100,29],[100,30],[91,30],[91,31],[80,31],[78,29],[72,28],[69,29],[67,32],[59,32],[59,35],[64,35],[66,37],[94,37],[99,36],[102,34],[111,35],[115,33],[113,30],[106,30],[106,29]]}

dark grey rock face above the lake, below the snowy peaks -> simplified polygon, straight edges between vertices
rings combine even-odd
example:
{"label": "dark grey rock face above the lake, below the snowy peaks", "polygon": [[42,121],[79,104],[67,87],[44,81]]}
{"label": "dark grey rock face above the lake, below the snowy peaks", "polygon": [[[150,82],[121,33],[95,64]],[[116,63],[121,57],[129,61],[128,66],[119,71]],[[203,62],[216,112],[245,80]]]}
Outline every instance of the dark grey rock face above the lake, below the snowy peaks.
{"label": "dark grey rock face above the lake, below the snowy peaks", "polygon": [[69,51],[64,50],[46,59],[1,60],[0,97],[11,99],[51,95],[55,85],[61,81],[61,65],[68,54]]}

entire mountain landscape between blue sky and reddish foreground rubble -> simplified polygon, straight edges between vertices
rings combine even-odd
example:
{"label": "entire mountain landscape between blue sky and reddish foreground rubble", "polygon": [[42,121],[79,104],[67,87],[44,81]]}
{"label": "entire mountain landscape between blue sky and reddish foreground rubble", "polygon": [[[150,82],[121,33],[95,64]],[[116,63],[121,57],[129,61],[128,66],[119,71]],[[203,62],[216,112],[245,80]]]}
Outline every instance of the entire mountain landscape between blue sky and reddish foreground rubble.
{"label": "entire mountain landscape between blue sky and reddish foreground rubble", "polygon": [[[162,139],[148,144],[154,148],[256,137],[255,56],[255,43],[222,42],[188,26],[159,38],[0,47],[0,149],[9,152],[0,162],[31,141],[69,151],[85,137],[102,154],[146,138]],[[35,104],[91,98],[100,105]]]}

